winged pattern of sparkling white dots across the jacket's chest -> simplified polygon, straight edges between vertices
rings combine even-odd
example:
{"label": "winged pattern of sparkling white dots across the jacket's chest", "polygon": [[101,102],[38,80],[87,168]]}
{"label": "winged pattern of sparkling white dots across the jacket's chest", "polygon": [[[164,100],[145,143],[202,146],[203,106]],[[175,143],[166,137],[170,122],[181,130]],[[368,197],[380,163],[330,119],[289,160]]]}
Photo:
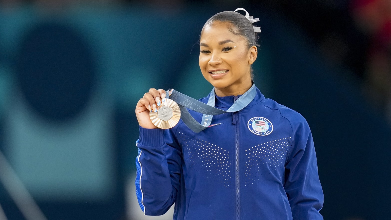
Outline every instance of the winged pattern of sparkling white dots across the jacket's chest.
{"label": "winged pattern of sparkling white dots across the jacket's chest", "polygon": [[[210,141],[195,137],[189,138],[181,132],[179,134],[181,137],[178,138],[183,149],[183,156],[185,161],[188,161],[190,169],[199,170],[206,178],[212,178],[226,187],[234,184],[233,165],[235,158],[230,155],[229,150]],[[260,173],[277,170],[278,166],[285,166],[290,146],[291,137],[266,141],[253,147],[244,148],[246,150],[240,150],[240,154],[244,154],[246,158],[240,162],[240,166],[245,166],[244,175],[241,174],[241,176],[244,176],[244,184],[254,184]],[[231,152],[231,154],[234,154],[234,152]],[[243,155],[241,158],[243,158]]]}

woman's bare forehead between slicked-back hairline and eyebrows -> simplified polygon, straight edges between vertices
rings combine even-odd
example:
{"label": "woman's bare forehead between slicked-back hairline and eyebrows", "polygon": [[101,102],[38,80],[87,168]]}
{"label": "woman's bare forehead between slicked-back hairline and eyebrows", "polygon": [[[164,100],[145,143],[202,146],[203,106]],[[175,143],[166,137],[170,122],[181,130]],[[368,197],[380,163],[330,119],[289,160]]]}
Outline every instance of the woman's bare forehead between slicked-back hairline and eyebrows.
{"label": "woman's bare forehead between slicked-back hairline and eyebrows", "polygon": [[228,22],[215,21],[211,25],[205,25],[200,42],[201,43],[214,43],[222,40],[231,39],[235,43],[244,41],[244,38],[240,35],[233,34],[230,29],[232,25]]}

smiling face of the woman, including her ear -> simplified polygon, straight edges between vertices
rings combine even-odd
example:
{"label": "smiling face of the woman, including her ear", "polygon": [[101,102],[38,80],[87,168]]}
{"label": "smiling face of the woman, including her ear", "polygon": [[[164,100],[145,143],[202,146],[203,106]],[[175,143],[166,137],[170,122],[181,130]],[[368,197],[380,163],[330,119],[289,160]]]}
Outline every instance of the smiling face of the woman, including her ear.
{"label": "smiling face of the woman, including her ear", "polygon": [[256,47],[247,48],[246,39],[230,32],[229,25],[219,21],[206,25],[200,39],[199,67],[218,96],[246,92],[256,59]]}

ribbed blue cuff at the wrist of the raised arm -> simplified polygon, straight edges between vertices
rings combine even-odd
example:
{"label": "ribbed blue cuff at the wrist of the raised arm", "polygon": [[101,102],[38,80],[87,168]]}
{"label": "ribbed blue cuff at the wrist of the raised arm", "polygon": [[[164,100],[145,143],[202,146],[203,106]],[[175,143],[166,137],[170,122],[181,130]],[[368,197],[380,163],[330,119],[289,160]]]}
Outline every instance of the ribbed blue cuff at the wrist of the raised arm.
{"label": "ribbed blue cuff at the wrist of the raised arm", "polygon": [[147,129],[139,126],[138,143],[143,146],[161,147],[164,145],[163,129]]}

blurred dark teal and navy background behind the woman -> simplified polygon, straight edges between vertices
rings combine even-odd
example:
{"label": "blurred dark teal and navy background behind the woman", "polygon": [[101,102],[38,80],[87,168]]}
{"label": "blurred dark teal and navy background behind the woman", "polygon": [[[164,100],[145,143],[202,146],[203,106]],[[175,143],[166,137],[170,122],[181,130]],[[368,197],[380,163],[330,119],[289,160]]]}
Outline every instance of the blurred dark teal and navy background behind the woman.
{"label": "blurred dark teal and navy background behind the woman", "polygon": [[255,83],[308,121],[330,220],[389,219],[390,0],[0,0],[0,220],[139,220],[136,102],[194,98],[204,22],[247,9]]}

